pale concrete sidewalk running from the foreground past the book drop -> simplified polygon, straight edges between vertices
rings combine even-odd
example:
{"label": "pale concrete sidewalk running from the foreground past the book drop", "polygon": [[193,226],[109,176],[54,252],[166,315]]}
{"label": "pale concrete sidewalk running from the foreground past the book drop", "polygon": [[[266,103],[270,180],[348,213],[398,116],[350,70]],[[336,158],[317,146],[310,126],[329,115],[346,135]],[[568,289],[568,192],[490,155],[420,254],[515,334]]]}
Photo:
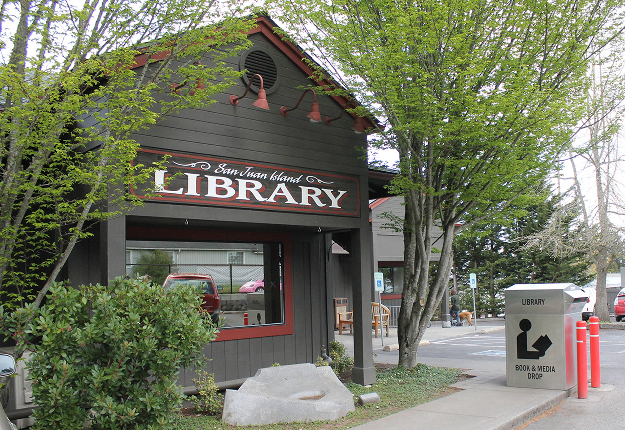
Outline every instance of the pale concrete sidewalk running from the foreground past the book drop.
{"label": "pale concrete sidewalk running from the foreground past the book drop", "polygon": [[[442,328],[440,323],[432,322],[420,346],[456,336],[486,335],[505,330],[504,321],[490,321],[489,325],[480,325],[481,322],[477,321],[477,330],[471,326]],[[349,353],[353,353],[351,335],[335,335],[335,338],[347,346]],[[389,337],[384,337],[384,345],[394,344],[397,344],[397,331],[391,328]],[[399,353],[383,351],[379,334],[377,339],[373,339],[373,349],[376,363],[397,364]],[[452,385],[462,389],[458,393],[362,424],[354,429],[511,430],[568,396],[567,391],[506,386],[506,363],[501,360],[419,358],[419,362],[430,366],[463,369],[464,373],[474,378]],[[591,394],[592,389],[589,388],[589,396]]]}

